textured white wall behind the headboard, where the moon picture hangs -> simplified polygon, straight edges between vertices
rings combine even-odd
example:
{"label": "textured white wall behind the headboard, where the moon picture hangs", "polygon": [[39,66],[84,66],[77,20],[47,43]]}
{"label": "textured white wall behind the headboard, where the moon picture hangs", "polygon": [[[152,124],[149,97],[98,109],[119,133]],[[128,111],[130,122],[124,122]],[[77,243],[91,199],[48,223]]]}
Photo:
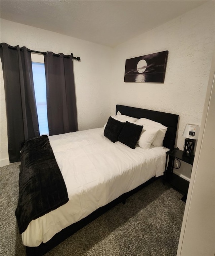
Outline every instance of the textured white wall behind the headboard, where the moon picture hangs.
{"label": "textured white wall behind the headboard, where the moon picture hangs", "polygon": [[[186,123],[201,123],[215,43],[214,19],[211,1],[116,47],[112,108],[123,104],[178,114],[176,146],[183,150]],[[126,59],[165,50],[169,56],[163,84],[123,82]],[[181,163],[180,173],[190,177],[191,166]]]}

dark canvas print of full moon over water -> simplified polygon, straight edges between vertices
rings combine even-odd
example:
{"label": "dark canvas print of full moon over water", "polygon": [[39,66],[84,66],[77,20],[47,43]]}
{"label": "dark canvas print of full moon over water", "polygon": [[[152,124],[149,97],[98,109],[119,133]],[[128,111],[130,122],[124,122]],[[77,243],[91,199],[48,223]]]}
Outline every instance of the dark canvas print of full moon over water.
{"label": "dark canvas print of full moon over water", "polygon": [[127,59],[124,82],[164,83],[167,57],[164,51]]}

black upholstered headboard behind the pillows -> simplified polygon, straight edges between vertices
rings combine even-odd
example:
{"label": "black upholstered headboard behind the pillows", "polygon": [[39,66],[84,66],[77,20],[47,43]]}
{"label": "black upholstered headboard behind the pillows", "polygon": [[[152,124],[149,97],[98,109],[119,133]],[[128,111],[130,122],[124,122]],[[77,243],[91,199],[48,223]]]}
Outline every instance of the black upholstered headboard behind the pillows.
{"label": "black upholstered headboard behind the pillows", "polygon": [[172,150],[175,147],[175,138],[178,126],[178,115],[160,111],[128,107],[123,105],[116,106],[116,113],[120,111],[122,115],[135,118],[147,118],[167,126],[167,132],[164,137],[163,146]]}

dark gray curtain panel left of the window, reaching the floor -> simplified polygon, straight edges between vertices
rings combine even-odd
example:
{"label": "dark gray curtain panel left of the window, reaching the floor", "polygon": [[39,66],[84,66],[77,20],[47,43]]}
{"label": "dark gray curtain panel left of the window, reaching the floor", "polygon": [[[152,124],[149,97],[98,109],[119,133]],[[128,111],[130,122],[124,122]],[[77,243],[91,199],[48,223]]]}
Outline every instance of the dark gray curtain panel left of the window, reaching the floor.
{"label": "dark gray curtain panel left of the window, reaching the floor", "polygon": [[[10,46],[9,46],[10,47]],[[3,69],[7,113],[8,153],[10,163],[20,161],[21,143],[39,136],[34,93],[31,53],[2,43]]]}

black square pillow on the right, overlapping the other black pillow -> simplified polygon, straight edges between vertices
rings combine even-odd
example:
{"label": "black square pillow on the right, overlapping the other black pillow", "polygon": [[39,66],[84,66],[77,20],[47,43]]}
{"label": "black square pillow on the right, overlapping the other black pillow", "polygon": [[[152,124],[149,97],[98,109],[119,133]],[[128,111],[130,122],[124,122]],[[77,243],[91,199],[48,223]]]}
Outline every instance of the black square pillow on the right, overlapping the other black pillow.
{"label": "black square pillow on the right, overlapping the other black pillow", "polygon": [[118,141],[134,149],[137,141],[139,140],[142,129],[143,125],[137,125],[126,121],[118,137]]}

